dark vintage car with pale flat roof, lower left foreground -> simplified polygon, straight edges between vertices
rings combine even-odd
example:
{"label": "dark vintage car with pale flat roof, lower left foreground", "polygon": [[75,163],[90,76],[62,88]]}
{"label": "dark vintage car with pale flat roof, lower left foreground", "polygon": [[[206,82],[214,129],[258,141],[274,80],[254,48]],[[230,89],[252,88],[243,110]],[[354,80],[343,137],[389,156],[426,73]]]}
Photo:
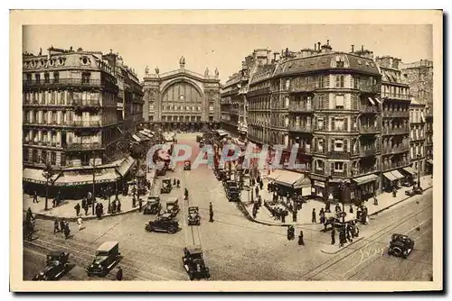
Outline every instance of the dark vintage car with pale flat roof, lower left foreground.
{"label": "dark vintage car with pale flat roof, lower left foreground", "polygon": [[120,260],[119,242],[104,242],[96,251],[96,257],[87,268],[89,277],[105,277]]}

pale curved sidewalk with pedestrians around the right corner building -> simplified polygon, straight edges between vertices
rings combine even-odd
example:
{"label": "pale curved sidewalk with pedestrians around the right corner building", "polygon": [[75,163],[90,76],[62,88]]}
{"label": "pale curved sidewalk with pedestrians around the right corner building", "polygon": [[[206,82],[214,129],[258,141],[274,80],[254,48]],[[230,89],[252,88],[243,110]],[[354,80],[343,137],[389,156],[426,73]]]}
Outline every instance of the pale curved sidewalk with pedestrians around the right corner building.
{"label": "pale curved sidewalk with pedestrians around the right corner building", "polygon": [[[271,200],[272,194],[267,191],[267,184],[268,180],[264,178],[264,187],[262,190],[259,191],[259,195],[262,196],[262,203],[264,200]],[[432,187],[433,185],[433,179],[428,176],[424,176],[420,178],[420,186],[427,190],[428,188]],[[392,197],[391,193],[382,193],[378,196],[378,205],[373,205],[373,201],[369,200],[367,202],[366,206],[368,208],[369,215],[379,214],[384,210],[387,210],[393,205],[397,205],[400,202],[410,198],[410,196],[405,196],[405,191],[409,190],[411,187],[402,187],[399,189],[399,192],[397,194],[397,197]],[[254,190],[254,187],[253,187]],[[243,207],[247,210],[248,214],[250,214],[250,218],[254,220],[257,223],[264,223],[268,225],[276,225],[276,226],[287,226],[287,225],[298,225],[298,226],[306,226],[306,225],[312,225],[319,224],[319,211],[321,208],[325,208],[325,203],[318,200],[307,200],[307,203],[303,204],[302,209],[298,210],[297,213],[297,223],[294,223],[292,221],[292,215],[289,214],[286,217],[286,223],[282,223],[281,221],[275,220],[268,209],[262,204],[262,206],[259,208],[259,212],[256,216],[256,218],[252,218],[252,208],[253,205],[250,204],[250,192],[243,190],[242,191],[242,197],[241,197],[241,203]],[[254,200],[256,201],[257,198],[255,196],[255,192],[253,191]],[[331,205],[331,208],[334,209],[334,205]],[[341,205],[342,207],[342,205]],[[316,213],[316,222],[312,223],[312,210],[315,208]],[[345,212],[348,213],[350,209],[350,205],[345,205]],[[353,214],[356,213],[356,206],[353,205]]]}

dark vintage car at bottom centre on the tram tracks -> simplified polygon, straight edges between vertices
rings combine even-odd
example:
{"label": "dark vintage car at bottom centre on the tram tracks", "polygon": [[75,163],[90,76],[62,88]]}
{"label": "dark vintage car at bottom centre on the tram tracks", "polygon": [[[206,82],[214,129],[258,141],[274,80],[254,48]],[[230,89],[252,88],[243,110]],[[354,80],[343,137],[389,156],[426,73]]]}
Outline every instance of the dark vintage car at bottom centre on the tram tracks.
{"label": "dark vintage car at bottom centre on the tram tracks", "polygon": [[206,267],[202,256],[201,246],[189,246],[184,248],[182,258],[184,269],[187,271],[190,280],[199,278],[211,278],[209,268]]}

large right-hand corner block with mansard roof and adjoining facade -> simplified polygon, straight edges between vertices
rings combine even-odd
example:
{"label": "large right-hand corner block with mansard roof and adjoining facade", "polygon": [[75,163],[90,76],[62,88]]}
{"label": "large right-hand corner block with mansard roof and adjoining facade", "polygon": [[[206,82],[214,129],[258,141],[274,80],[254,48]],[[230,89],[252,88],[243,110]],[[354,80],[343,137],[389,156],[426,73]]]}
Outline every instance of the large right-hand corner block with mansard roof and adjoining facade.
{"label": "large right-hand corner block with mansard roof and adjoining facade", "polygon": [[327,41],[297,54],[286,50],[250,78],[248,139],[258,146],[283,145],[286,168],[296,145],[296,162],[304,164],[297,171],[311,180],[315,196],[366,199],[395,179],[391,169],[409,164],[405,117],[410,100],[400,96],[408,95],[407,87],[397,88],[398,97],[381,99],[381,70],[363,47],[336,52]]}

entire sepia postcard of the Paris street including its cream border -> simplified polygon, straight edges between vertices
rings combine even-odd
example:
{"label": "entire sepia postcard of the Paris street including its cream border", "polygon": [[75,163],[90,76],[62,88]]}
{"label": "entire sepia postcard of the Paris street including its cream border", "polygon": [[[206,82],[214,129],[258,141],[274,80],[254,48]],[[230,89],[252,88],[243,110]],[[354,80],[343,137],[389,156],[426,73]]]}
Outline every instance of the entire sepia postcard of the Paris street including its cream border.
{"label": "entire sepia postcard of the Paris street including its cream border", "polygon": [[104,13],[10,15],[12,290],[442,288],[441,11]]}

